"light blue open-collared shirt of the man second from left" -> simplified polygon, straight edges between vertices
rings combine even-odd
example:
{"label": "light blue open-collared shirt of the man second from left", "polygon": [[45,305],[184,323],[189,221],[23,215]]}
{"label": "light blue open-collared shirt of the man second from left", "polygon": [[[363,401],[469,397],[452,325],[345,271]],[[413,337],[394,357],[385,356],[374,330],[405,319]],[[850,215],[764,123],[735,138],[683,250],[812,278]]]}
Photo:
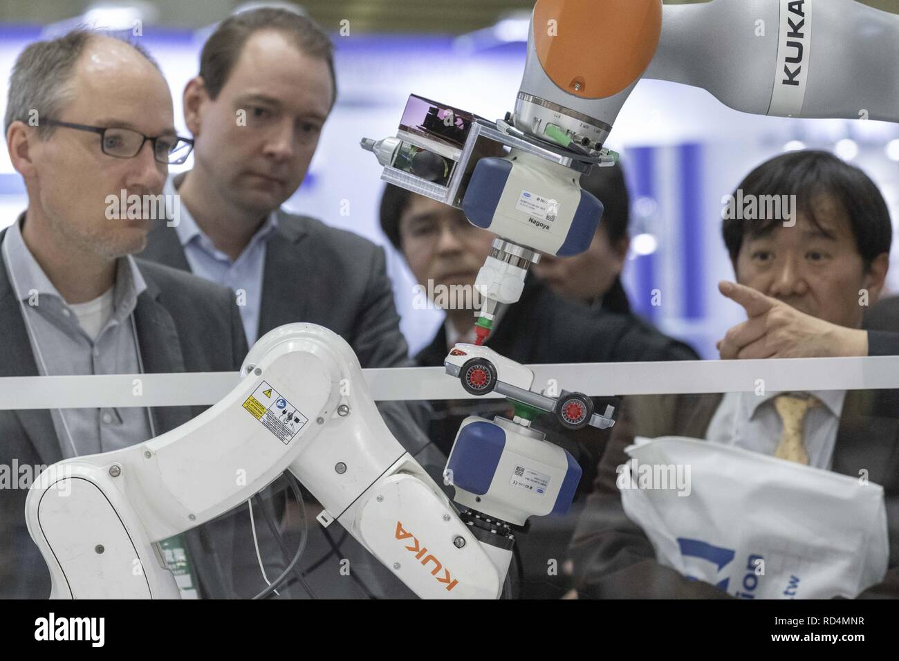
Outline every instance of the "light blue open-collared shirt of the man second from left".
{"label": "light blue open-collared shirt of the man second from left", "polygon": [[[174,177],[170,176],[165,182],[163,192],[166,196],[177,194]],[[268,215],[244,252],[232,262],[200,229],[187,207],[183,203],[179,207],[178,224],[174,226],[174,230],[184,248],[191,272],[234,290],[246,341],[253,346],[259,331],[259,311],[263,302],[265,239],[278,227],[277,215],[274,211]]]}

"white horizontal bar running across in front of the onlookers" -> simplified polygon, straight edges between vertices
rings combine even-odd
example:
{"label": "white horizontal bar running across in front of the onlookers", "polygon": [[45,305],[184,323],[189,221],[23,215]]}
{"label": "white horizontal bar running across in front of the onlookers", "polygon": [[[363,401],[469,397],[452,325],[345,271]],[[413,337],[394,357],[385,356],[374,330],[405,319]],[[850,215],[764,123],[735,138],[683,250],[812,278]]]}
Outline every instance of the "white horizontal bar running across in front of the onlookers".
{"label": "white horizontal bar running across in front of the onlookers", "polygon": [[[534,389],[591,396],[699,392],[899,389],[899,356],[758,361],[604,362],[529,365]],[[441,367],[363,370],[378,401],[474,397]],[[502,374],[500,375],[502,378]],[[206,406],[237,383],[237,372],[0,378],[0,409]],[[351,384],[352,388],[352,384]],[[491,394],[486,397],[500,397]]]}

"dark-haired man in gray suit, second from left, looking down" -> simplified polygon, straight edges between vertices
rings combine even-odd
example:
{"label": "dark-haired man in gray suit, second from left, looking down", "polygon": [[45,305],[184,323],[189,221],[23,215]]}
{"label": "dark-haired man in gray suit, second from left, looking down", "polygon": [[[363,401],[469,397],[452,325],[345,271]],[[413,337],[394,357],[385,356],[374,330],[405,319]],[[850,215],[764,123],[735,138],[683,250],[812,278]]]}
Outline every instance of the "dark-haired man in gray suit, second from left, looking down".
{"label": "dark-haired man in gray suit, second from left, looking down", "polygon": [[[141,256],[235,290],[250,344],[303,321],[343,336],[363,368],[407,367],[413,363],[383,249],[280,209],[306,176],[334,106],[332,50],[315,22],[285,9],[237,13],[218,25],[183,94],[195,160],[165,184],[170,196],[180,196],[180,213],[172,227],[161,223],[150,232]],[[378,410],[440,483],[446,458],[423,432],[430,407],[380,402]],[[355,540],[331,539],[333,529],[315,522],[319,505],[309,501],[300,567],[316,572],[309,579],[316,595],[412,594]],[[343,559],[350,560],[349,577]]]}

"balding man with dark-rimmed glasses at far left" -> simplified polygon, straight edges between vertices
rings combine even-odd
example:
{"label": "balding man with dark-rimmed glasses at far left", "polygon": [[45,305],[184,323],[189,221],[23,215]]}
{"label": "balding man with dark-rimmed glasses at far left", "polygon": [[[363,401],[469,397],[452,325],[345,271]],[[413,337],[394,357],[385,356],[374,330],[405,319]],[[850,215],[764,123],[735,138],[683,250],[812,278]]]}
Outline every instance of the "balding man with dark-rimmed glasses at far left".
{"label": "balding man with dark-rimmed glasses at far left", "polygon": [[[135,260],[150,221],[109,213],[109,196],[161,194],[168,165],[191,150],[175,134],[156,63],[90,31],[33,43],[13,68],[4,129],[28,209],[0,235],[0,376],[238,369],[247,348],[233,294]],[[37,474],[146,441],[200,411],[0,410],[0,465]],[[25,523],[28,486],[0,489],[2,597],[49,596]],[[167,554],[186,558],[185,594],[233,594],[231,540],[253,543],[235,525],[225,515],[165,542]]]}

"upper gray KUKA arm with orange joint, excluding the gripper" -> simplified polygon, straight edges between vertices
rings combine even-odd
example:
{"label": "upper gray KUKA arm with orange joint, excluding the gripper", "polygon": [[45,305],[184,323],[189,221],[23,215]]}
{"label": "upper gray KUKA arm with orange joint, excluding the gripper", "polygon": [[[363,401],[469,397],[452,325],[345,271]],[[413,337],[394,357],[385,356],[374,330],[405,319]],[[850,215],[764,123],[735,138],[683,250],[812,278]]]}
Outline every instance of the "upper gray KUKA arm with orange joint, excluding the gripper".
{"label": "upper gray KUKA arm with orange joint, excluding the gripper", "polygon": [[899,15],[856,0],[539,0],[515,125],[601,147],[640,77],[753,114],[899,121],[897,61]]}

